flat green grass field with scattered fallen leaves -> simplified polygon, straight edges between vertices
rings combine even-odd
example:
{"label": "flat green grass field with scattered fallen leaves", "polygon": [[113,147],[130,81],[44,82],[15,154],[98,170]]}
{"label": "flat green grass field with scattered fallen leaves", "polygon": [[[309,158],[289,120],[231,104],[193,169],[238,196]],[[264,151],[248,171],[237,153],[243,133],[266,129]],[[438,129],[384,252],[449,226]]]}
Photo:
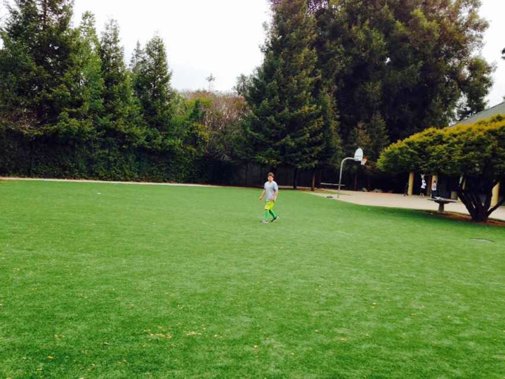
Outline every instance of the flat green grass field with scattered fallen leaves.
{"label": "flat green grass field with scattered fallen leaves", "polygon": [[504,378],[503,227],[260,193],[0,183],[0,379]]}

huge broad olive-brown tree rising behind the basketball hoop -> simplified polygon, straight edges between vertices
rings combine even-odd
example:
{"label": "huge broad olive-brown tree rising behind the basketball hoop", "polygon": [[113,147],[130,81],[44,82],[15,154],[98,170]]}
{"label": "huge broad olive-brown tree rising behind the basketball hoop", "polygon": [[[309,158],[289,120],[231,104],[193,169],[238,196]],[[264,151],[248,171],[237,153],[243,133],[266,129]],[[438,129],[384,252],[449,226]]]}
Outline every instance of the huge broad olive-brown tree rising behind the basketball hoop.
{"label": "huge broad olive-brown tree rising behind the basketball hoop", "polygon": [[[492,66],[475,56],[488,24],[479,0],[314,1],[318,63],[346,147],[381,118],[384,144],[485,106]],[[387,137],[387,138],[384,138]]]}

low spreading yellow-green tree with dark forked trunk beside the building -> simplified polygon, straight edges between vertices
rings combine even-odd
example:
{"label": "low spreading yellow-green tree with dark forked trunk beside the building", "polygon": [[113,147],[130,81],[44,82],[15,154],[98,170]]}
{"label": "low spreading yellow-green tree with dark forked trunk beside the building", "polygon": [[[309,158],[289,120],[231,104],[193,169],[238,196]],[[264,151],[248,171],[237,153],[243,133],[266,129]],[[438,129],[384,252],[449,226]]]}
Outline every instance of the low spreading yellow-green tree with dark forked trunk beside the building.
{"label": "low spreading yellow-green tree with dark forked trunk beside the building", "polygon": [[474,125],[424,130],[389,146],[378,164],[384,171],[460,178],[458,196],[474,221],[485,222],[505,203],[502,199],[491,206],[492,189],[505,179],[505,116]]}

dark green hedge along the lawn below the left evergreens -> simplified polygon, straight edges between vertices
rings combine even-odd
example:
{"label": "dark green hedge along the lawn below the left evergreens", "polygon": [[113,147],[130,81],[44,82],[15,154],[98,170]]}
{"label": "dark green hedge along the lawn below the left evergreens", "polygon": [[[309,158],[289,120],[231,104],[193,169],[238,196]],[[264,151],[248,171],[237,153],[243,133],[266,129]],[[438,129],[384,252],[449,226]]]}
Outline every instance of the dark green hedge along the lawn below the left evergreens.
{"label": "dark green hedge along the lawn below the left evergreens", "polygon": [[153,182],[205,182],[207,162],[192,153],[153,152],[107,141],[28,139],[0,132],[0,174],[33,178],[85,178]]}

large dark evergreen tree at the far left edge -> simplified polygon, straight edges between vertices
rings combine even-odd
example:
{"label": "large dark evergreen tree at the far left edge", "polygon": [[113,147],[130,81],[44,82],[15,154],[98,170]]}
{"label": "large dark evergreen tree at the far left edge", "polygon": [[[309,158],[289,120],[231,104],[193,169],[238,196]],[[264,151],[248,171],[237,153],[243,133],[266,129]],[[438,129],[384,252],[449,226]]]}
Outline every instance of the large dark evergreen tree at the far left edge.
{"label": "large dark evergreen tree at the far left edge", "polygon": [[24,132],[55,125],[61,111],[79,107],[77,32],[72,0],[16,0],[1,31],[0,102]]}

